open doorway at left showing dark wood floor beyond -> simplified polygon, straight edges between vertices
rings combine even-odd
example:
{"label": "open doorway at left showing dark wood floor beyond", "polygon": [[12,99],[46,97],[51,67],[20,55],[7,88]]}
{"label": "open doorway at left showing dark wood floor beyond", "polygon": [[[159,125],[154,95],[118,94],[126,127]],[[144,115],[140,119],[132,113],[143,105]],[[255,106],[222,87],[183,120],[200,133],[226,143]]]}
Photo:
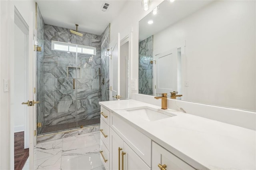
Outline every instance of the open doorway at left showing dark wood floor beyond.
{"label": "open doorway at left showing dark wood floor beyond", "polygon": [[14,8],[14,57],[11,62],[10,104],[14,134],[14,169],[21,170],[29,155],[28,107],[28,34],[29,28]]}

